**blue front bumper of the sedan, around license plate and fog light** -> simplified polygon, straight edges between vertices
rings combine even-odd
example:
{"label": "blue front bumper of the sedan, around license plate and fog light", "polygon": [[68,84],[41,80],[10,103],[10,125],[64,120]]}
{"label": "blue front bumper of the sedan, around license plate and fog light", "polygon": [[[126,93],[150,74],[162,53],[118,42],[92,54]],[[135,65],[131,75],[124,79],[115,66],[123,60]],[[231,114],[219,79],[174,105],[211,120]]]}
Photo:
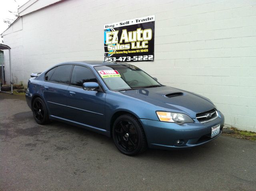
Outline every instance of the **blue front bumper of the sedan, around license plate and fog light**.
{"label": "blue front bumper of the sedan, around license plate and fog light", "polygon": [[[196,119],[193,123],[176,123],[140,119],[146,133],[148,147],[157,149],[181,149],[202,145],[216,139],[224,126],[224,115],[218,111],[219,117],[207,123],[200,123]],[[212,127],[220,124],[220,134],[210,138]],[[177,140],[184,143],[177,144]]]}

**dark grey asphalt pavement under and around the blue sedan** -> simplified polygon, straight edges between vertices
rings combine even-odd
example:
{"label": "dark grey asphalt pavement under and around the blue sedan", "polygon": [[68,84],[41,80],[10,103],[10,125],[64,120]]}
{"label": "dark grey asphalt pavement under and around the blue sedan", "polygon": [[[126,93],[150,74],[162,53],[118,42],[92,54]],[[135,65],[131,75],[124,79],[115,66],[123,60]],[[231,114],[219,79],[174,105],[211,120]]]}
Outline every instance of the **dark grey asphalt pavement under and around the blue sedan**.
{"label": "dark grey asphalt pavement under and around the blue sedan", "polygon": [[256,142],[221,135],[189,150],[129,157],[112,139],[38,125],[24,94],[0,93],[0,190],[256,190]]}

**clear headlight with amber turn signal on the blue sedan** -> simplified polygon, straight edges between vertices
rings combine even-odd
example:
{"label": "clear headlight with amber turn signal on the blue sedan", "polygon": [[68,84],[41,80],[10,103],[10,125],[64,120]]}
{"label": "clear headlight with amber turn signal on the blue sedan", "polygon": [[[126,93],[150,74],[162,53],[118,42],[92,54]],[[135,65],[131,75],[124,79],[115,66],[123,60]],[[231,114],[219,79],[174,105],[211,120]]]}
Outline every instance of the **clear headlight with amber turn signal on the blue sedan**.
{"label": "clear headlight with amber turn signal on the blue sedan", "polygon": [[193,119],[184,113],[156,111],[156,114],[160,121],[177,123],[179,125],[193,122]]}

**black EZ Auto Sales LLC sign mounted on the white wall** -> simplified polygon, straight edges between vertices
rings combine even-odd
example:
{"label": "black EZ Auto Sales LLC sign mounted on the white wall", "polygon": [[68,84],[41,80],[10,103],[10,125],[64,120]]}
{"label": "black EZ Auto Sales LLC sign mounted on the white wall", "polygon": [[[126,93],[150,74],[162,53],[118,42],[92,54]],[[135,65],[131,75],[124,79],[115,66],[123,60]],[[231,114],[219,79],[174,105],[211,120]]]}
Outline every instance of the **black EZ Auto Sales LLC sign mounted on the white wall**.
{"label": "black EZ Auto Sales LLC sign mounted on the white wall", "polygon": [[104,60],[154,61],[155,16],[104,25]]}

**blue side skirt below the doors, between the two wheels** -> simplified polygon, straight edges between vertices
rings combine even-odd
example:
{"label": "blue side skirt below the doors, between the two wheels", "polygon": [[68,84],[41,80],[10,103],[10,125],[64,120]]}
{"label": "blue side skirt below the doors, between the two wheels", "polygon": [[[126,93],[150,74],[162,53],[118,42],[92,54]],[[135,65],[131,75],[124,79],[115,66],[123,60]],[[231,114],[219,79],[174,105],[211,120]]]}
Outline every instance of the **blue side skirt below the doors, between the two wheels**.
{"label": "blue side skirt below the doors, between the two wheels", "polygon": [[87,129],[89,131],[94,131],[96,133],[100,133],[100,134],[106,135],[108,137],[111,137],[110,131],[107,131],[105,129],[100,129],[98,127],[94,127],[94,126],[91,126],[91,125],[85,125],[84,123],[79,123],[79,122],[76,122],[76,121],[64,119],[62,117],[57,117],[57,116],[54,116],[54,115],[49,115],[49,119],[53,119],[53,120],[56,120],[56,121],[61,121],[61,122],[64,122],[64,123],[68,123],[70,125],[75,125],[77,127],[82,127],[82,128]]}

